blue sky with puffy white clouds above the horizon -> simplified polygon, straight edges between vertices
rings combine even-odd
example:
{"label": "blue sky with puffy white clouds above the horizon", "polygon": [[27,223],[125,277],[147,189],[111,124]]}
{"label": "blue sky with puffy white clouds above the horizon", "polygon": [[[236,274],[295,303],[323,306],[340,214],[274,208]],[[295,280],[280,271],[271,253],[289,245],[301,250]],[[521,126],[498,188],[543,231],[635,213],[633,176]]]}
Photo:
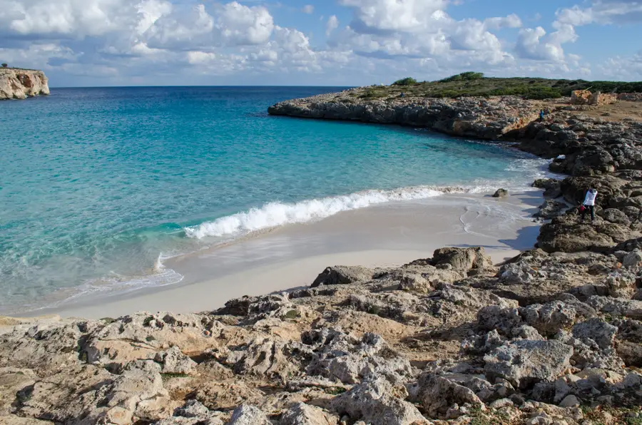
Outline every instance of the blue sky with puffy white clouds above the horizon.
{"label": "blue sky with puffy white clouds above the horizon", "polygon": [[0,0],[0,62],[52,87],[641,81],[642,0]]}

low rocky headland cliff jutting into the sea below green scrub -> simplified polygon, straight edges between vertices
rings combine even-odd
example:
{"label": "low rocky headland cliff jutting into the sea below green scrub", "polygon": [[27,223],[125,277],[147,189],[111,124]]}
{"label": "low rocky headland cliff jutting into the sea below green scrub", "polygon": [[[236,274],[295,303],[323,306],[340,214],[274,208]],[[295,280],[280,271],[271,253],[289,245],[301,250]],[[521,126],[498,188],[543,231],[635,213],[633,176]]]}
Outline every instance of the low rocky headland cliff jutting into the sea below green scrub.
{"label": "low rocky headland cliff jutting into the sea below green scrub", "polygon": [[[497,140],[536,120],[539,105],[516,96],[368,99],[363,88],[277,103],[271,115],[325,118],[430,128],[440,133]],[[365,92],[367,93],[367,92]]]}

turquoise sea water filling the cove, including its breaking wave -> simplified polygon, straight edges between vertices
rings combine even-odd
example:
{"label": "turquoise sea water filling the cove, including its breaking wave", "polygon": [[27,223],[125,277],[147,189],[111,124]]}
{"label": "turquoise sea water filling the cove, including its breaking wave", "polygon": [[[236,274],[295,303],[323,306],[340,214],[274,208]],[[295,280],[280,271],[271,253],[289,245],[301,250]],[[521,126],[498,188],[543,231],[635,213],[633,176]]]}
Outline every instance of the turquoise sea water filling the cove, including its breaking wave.
{"label": "turquoise sea water filling the cove, including its breaking wave", "polygon": [[0,311],[88,286],[170,285],[180,276],[164,257],[434,187],[521,188],[541,173],[541,160],[499,145],[267,116],[277,101],[330,91],[59,88],[0,103]]}

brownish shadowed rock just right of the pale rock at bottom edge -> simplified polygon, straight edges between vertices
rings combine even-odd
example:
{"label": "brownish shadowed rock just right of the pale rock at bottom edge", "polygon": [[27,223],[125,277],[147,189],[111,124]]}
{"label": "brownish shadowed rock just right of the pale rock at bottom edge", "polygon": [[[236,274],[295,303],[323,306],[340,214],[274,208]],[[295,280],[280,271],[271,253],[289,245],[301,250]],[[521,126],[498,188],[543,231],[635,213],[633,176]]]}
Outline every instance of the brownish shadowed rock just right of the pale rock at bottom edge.
{"label": "brownish shadowed rock just right of the pale rock at bottom edge", "polygon": [[433,418],[444,416],[454,404],[470,404],[477,409],[485,407],[471,389],[431,373],[422,374],[409,392]]}

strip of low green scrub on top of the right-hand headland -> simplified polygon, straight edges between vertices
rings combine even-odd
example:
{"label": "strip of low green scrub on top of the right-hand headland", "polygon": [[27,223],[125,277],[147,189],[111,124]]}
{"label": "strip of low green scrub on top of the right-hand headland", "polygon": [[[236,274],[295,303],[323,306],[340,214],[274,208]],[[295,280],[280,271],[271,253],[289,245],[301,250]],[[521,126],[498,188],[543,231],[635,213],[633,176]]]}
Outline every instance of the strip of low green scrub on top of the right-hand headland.
{"label": "strip of low green scrub on top of the right-hand headland", "polygon": [[371,86],[358,98],[377,99],[390,96],[422,96],[431,98],[457,98],[459,96],[520,96],[525,99],[549,99],[571,96],[575,90],[601,91],[602,93],[642,93],[642,81],[586,81],[549,78],[496,78],[481,72],[464,72],[439,81],[419,82],[407,77],[394,81],[390,86]]}

